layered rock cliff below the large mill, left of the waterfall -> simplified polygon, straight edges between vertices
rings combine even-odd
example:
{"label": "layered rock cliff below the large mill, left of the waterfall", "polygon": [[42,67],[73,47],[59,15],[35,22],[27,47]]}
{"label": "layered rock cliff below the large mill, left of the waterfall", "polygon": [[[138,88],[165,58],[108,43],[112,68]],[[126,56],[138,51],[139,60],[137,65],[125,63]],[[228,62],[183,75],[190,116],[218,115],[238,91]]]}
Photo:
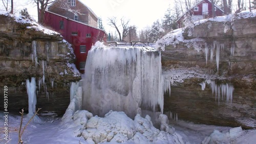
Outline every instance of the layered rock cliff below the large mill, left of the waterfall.
{"label": "layered rock cliff below the large mill, left of the waterfall", "polygon": [[70,101],[69,83],[80,80],[71,45],[24,17],[6,13],[0,19],[0,91],[8,86],[9,112],[28,109],[26,80],[35,77],[36,107],[63,114]]}

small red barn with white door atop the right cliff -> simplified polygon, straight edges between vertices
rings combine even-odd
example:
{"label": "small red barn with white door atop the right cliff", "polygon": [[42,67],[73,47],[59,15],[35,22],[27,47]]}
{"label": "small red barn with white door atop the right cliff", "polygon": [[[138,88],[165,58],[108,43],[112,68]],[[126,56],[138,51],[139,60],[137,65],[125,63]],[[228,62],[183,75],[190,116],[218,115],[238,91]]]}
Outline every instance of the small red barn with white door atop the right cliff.
{"label": "small red barn with white door atop the right cliff", "polygon": [[[214,6],[215,12],[216,12],[216,16],[223,16],[224,11],[218,7],[217,5]],[[202,0],[200,2],[198,2],[196,5],[194,5],[193,7],[190,8],[190,12],[193,14],[194,16],[194,21],[198,21],[201,19],[205,19],[205,18],[210,18],[212,17],[212,6],[211,6],[211,1],[209,0]],[[186,11],[176,22],[178,25],[178,28],[182,28],[183,27],[183,19],[185,14],[187,14],[188,11]]]}

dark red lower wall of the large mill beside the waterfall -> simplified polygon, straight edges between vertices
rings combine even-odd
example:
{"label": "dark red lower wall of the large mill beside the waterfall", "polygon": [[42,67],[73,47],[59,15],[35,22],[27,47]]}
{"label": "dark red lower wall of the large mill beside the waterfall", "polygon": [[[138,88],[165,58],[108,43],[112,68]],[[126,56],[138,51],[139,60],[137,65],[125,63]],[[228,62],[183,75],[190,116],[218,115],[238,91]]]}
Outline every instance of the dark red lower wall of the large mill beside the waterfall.
{"label": "dark red lower wall of the large mill beside the waterfall", "polygon": [[[60,29],[61,20],[64,22],[64,29]],[[59,32],[65,40],[72,44],[76,55],[75,64],[81,73],[84,73],[84,70],[79,69],[79,63],[86,61],[88,52],[96,41],[106,41],[107,37],[107,34],[100,29],[87,26],[47,11],[45,12],[45,25],[53,28],[56,32]],[[71,35],[72,32],[78,32],[78,35],[73,36]],[[89,33],[91,34],[91,37],[86,37],[86,34]],[[86,53],[80,53],[80,45],[86,45]]]}

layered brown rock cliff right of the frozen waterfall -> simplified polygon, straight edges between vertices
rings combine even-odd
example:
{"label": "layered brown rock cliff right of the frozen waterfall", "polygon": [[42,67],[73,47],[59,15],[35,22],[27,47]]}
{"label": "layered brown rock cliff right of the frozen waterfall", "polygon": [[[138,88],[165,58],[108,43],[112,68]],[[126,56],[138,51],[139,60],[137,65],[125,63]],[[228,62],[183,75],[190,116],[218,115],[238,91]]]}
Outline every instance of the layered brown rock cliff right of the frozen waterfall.
{"label": "layered brown rock cliff right of the frozen waterfall", "polygon": [[[157,43],[165,49],[163,74],[172,82],[170,97],[164,97],[165,111],[196,123],[255,128],[256,12],[195,24],[190,36],[187,29],[180,30]],[[214,81],[217,95],[212,85],[202,90],[205,80]],[[234,88],[232,99],[222,99],[222,84]]]}

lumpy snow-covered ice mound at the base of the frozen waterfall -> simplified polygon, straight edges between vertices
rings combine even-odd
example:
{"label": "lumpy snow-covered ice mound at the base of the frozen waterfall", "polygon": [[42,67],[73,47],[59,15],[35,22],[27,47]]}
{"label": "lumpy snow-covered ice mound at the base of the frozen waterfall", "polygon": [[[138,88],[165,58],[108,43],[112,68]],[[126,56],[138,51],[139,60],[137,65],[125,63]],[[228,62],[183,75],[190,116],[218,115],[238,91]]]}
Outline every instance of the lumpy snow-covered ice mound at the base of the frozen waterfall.
{"label": "lumpy snow-covered ice mound at the base of the frozen waterfall", "polygon": [[133,120],[120,111],[111,110],[104,117],[93,117],[90,112],[80,110],[73,116],[73,125],[76,126],[74,133],[87,142],[95,143],[185,143],[174,128],[165,123],[166,117],[163,114],[160,116],[164,119],[160,131],[153,126],[148,115],[143,118],[137,114]]}

